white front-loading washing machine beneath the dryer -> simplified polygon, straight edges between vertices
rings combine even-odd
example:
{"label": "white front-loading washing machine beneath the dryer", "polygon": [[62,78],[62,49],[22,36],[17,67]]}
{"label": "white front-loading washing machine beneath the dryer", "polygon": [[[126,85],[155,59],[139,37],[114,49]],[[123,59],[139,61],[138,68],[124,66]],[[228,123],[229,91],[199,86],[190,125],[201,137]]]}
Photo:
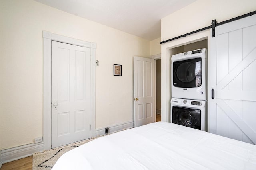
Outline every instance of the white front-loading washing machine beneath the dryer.
{"label": "white front-loading washing machine beneath the dryer", "polygon": [[207,131],[205,100],[171,99],[171,123]]}

